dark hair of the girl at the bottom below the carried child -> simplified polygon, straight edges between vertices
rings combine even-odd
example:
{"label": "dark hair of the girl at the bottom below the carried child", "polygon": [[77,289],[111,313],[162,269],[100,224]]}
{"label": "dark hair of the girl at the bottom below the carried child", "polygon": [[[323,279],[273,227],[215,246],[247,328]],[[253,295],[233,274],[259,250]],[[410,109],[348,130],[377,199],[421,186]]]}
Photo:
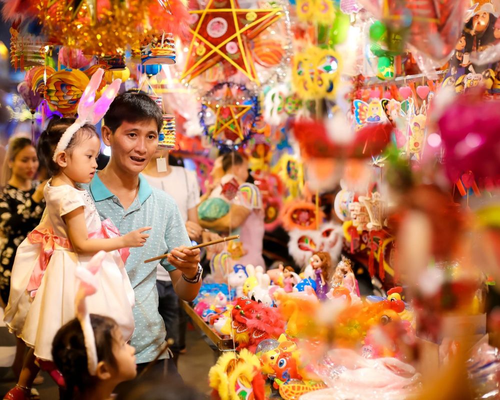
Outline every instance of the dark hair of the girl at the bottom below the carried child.
{"label": "dark hair of the girl at the bottom below the carried child", "polygon": [[[90,314],[90,323],[95,337],[97,360],[116,367],[112,332],[118,325],[114,319],[97,314]],[[88,372],[85,341],[78,319],[71,319],[57,331],[52,341],[52,358],[66,383],[62,400],[72,399],[76,390],[82,393],[95,384],[95,376]]]}

